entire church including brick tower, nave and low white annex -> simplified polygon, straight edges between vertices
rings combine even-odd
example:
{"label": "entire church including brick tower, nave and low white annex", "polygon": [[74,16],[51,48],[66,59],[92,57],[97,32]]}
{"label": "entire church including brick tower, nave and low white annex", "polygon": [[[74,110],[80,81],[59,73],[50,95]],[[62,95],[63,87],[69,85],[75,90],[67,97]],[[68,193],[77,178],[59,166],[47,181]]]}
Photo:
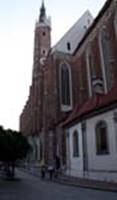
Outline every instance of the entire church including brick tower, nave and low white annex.
{"label": "entire church including brick tower, nave and low white annex", "polygon": [[117,1],[107,0],[95,19],[86,11],[54,47],[51,29],[43,2],[20,115],[29,162],[117,181]]}

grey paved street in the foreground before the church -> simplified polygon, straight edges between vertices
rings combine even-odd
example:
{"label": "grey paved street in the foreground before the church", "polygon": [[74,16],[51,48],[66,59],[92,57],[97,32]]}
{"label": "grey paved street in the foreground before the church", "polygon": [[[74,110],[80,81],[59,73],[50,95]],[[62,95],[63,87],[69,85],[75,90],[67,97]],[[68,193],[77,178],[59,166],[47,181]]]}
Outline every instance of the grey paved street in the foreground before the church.
{"label": "grey paved street in the foreground before the church", "polygon": [[0,180],[0,200],[117,200],[117,193],[65,186],[18,172],[20,181]]}

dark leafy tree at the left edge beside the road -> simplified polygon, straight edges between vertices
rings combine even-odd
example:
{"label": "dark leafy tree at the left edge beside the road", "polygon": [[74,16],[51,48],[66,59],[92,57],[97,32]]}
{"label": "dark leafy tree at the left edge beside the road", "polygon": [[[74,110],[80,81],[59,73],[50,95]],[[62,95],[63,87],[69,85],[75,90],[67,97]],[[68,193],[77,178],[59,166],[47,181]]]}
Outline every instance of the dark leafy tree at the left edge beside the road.
{"label": "dark leafy tree at the left edge beside the road", "polygon": [[25,158],[31,147],[21,132],[0,127],[0,161],[6,166],[7,175],[14,177],[15,165]]}

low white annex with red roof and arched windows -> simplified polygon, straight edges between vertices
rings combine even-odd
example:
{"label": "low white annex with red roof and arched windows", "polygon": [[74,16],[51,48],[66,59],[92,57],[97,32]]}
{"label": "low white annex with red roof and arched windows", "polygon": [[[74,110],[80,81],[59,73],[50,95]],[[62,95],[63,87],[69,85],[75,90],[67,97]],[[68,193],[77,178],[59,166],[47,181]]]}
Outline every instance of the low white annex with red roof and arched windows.
{"label": "low white annex with red roof and arched windows", "polygon": [[89,98],[64,124],[71,176],[117,182],[117,86]]}

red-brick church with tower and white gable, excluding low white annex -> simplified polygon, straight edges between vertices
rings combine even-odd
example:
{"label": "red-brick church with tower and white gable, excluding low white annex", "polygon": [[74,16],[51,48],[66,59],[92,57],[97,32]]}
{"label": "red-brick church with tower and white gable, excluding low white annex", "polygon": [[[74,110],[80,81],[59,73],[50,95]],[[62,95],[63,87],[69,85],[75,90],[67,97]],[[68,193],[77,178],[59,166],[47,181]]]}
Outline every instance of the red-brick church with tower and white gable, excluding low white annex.
{"label": "red-brick church with tower and white gable, excluding low white annex", "polygon": [[62,123],[76,105],[80,108],[90,97],[107,94],[116,79],[116,0],[107,0],[94,20],[84,14],[53,48],[51,22],[42,3],[35,26],[32,84],[20,115],[20,130],[33,146],[32,162],[58,159],[66,165]]}

